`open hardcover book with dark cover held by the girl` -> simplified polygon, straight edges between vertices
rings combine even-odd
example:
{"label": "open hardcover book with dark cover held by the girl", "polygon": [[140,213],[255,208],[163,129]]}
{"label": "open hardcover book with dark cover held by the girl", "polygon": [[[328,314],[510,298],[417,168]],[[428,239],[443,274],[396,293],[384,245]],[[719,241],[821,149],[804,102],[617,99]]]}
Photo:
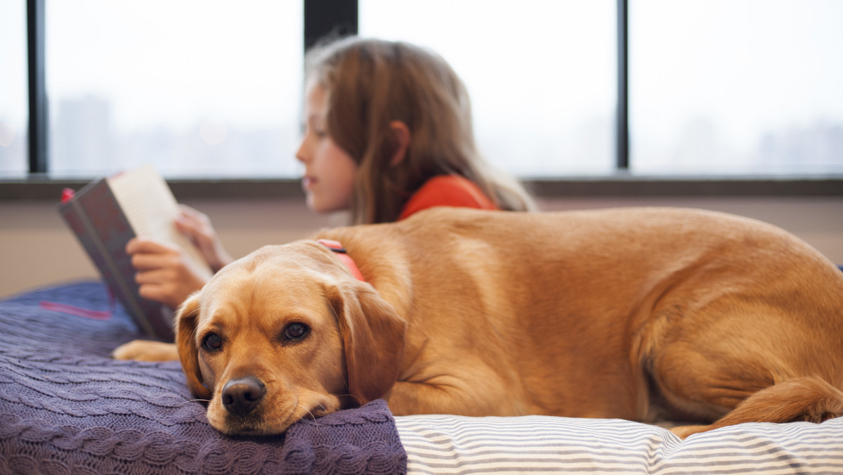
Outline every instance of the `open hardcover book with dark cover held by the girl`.
{"label": "open hardcover book with dark cover held by the girl", "polygon": [[94,180],[78,192],[66,190],[58,211],[137,327],[148,337],[172,341],[173,311],[138,294],[126,243],[137,235],[169,242],[185,250],[208,278],[212,271],[175,227],[179,205],[164,177],[146,165]]}

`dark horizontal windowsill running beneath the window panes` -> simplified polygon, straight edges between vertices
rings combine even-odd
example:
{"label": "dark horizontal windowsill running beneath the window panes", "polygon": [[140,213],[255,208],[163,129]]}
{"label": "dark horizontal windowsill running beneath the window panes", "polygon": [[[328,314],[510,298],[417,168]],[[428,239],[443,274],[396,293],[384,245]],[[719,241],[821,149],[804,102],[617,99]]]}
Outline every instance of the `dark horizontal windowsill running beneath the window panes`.
{"label": "dark horizontal windowsill running beneath the window panes", "polygon": [[[78,190],[89,180],[56,180],[33,175],[0,179],[0,201],[57,201],[63,188]],[[524,179],[536,197],[840,197],[843,175],[816,176],[564,176]],[[303,197],[295,179],[173,179],[169,185],[178,199],[185,198],[291,198]]]}

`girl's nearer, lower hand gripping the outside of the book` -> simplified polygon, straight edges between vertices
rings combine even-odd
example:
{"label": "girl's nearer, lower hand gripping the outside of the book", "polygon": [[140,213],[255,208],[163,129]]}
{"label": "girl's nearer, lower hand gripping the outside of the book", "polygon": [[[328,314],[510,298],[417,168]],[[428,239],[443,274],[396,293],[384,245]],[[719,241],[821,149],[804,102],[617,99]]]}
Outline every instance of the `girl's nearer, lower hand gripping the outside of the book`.
{"label": "girl's nearer, lower hand gripping the outside of the book", "polygon": [[132,266],[137,269],[135,282],[144,299],[175,309],[207,282],[207,271],[191,265],[177,246],[141,236],[126,244],[126,253],[132,256]]}

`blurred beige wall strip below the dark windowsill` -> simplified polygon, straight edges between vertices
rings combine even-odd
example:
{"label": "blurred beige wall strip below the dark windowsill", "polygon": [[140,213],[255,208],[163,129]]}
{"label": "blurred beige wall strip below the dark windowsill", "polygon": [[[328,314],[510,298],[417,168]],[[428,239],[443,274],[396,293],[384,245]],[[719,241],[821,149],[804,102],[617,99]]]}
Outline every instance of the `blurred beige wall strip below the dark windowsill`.
{"label": "blurred beige wall strip below the dark windowsill", "polygon": [[[186,204],[211,216],[228,251],[243,256],[265,244],[307,237],[341,225],[343,217],[310,213],[301,200],[194,200]],[[546,210],[615,206],[684,206],[736,213],[781,226],[843,263],[843,197],[560,198]],[[67,230],[52,202],[0,202],[0,297],[80,278],[96,269]]]}

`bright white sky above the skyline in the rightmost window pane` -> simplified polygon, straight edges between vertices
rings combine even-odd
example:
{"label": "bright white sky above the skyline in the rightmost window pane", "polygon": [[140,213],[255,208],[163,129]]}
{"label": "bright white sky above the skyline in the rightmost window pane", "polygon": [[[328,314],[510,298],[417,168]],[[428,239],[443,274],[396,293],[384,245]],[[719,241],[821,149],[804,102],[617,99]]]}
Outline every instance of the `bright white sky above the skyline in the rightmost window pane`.
{"label": "bright white sky above the skyline in the rightmost window pane", "polygon": [[675,134],[694,115],[716,117],[738,141],[823,117],[843,125],[840,0],[632,4],[630,111],[640,132]]}

